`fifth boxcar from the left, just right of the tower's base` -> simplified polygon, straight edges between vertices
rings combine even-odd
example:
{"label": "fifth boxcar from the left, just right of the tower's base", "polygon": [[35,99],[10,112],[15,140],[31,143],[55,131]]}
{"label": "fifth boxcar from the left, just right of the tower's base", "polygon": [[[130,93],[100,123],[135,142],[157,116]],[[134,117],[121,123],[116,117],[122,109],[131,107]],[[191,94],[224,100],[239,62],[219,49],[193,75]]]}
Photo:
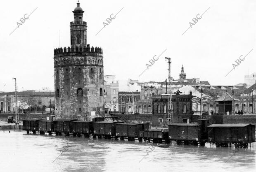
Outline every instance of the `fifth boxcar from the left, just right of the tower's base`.
{"label": "fifth boxcar from the left, just right of the tower's base", "polygon": [[116,122],[116,121],[99,121],[99,122],[93,122],[93,135],[94,137],[98,136],[105,137],[107,139],[110,139],[111,136],[116,136],[116,124],[122,123],[122,122]]}

